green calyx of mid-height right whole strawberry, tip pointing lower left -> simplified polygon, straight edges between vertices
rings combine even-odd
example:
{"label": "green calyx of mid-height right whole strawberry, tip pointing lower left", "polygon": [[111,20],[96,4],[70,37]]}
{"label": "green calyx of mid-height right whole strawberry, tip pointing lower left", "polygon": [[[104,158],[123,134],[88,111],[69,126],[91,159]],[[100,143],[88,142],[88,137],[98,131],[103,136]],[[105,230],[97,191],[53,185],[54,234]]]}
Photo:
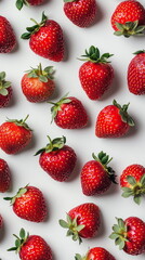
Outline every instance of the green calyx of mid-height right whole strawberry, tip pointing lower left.
{"label": "green calyx of mid-height right whole strawberry, tip pointing lower left", "polygon": [[121,119],[123,122],[127,122],[130,127],[134,127],[134,120],[132,117],[128,114],[129,104],[126,104],[123,106],[119,105],[116,100],[113,101],[113,105],[117,106],[119,108],[119,114],[121,116]]}

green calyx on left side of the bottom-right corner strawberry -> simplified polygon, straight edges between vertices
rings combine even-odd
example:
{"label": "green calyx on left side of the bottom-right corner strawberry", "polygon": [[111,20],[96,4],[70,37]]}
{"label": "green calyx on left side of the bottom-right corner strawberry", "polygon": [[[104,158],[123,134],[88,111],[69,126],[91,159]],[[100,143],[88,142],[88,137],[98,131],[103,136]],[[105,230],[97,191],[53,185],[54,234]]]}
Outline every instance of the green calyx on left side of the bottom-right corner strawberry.
{"label": "green calyx on left side of the bottom-right corner strawberry", "polygon": [[110,239],[115,240],[115,244],[119,246],[119,249],[123,249],[126,242],[128,242],[128,229],[122,219],[117,219],[117,224],[113,226],[113,233],[109,235]]}

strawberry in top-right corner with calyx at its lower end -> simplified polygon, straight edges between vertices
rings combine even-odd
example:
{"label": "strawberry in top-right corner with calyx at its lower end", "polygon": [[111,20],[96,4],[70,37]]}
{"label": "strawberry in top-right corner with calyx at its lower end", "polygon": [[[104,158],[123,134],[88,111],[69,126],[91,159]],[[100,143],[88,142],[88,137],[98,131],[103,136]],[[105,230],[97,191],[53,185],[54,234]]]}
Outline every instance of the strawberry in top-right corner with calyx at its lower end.
{"label": "strawberry in top-right corner with calyx at its lower end", "polygon": [[120,2],[111,16],[116,36],[130,37],[143,35],[145,29],[145,9],[135,0]]}

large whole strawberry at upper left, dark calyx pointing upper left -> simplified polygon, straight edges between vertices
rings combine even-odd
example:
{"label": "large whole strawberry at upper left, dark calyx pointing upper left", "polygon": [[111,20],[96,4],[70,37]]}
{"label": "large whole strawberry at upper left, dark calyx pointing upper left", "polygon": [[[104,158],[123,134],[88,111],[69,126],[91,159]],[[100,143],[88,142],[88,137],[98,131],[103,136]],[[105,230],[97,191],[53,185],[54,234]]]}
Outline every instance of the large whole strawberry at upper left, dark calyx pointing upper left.
{"label": "large whole strawberry at upper left, dark calyx pointing upper left", "polygon": [[29,47],[38,55],[53,62],[61,62],[64,58],[64,37],[61,26],[53,20],[48,20],[42,13],[41,23],[35,20],[35,26],[27,27],[22,35],[23,39],[30,39]]}

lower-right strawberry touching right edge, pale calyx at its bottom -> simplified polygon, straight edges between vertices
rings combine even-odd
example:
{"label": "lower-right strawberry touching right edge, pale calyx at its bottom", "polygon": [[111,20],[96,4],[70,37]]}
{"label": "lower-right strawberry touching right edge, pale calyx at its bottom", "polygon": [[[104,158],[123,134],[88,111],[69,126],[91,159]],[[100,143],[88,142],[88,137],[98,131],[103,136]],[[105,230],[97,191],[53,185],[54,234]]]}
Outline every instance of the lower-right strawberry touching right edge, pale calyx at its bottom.
{"label": "lower-right strawberry touching right edge, pale calyx at its bottom", "polygon": [[136,204],[141,204],[145,195],[145,168],[141,165],[128,166],[120,176],[122,196],[133,196]]}

